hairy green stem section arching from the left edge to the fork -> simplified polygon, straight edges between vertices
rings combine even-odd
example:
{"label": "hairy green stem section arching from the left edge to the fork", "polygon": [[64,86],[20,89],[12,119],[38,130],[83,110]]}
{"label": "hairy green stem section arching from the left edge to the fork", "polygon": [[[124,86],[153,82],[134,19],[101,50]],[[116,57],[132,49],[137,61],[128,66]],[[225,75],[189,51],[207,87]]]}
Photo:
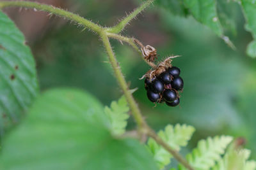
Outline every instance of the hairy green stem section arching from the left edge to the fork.
{"label": "hairy green stem section arching from the left edge to the fork", "polygon": [[91,22],[90,20],[86,20],[85,18],[80,17],[79,15],[76,15],[69,11],[56,8],[55,6],[50,6],[46,4],[40,4],[40,3],[33,3],[29,1],[0,1],[0,8],[6,8],[10,6],[33,8],[35,10],[46,11],[54,15],[58,15],[60,17],[68,18],[74,22],[77,22],[77,24],[81,24],[84,27],[97,32],[98,34],[99,32],[102,31],[102,27],[100,27],[100,25],[97,25]]}

